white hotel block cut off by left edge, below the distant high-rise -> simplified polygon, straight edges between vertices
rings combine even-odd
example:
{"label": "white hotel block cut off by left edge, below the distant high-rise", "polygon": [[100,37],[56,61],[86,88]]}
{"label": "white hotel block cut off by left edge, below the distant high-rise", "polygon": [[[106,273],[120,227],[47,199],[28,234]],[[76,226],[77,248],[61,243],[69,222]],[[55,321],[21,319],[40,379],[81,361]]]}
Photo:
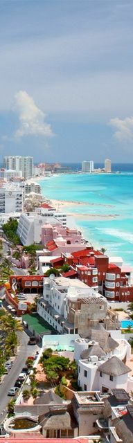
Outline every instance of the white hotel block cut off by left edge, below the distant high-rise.
{"label": "white hotel block cut off by left edge, below the distant high-rise", "polygon": [[24,190],[19,183],[6,183],[0,188],[0,213],[21,212],[24,208]]}

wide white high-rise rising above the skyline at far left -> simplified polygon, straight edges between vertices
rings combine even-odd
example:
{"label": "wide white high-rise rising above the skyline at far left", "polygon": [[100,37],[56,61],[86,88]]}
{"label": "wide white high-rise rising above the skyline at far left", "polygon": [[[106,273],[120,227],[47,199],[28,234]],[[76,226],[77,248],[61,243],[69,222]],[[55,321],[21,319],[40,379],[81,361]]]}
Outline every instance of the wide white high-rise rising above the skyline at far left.
{"label": "wide white high-rise rising above the skyline at far left", "polygon": [[30,179],[33,177],[33,157],[4,156],[3,168],[21,171],[24,179]]}

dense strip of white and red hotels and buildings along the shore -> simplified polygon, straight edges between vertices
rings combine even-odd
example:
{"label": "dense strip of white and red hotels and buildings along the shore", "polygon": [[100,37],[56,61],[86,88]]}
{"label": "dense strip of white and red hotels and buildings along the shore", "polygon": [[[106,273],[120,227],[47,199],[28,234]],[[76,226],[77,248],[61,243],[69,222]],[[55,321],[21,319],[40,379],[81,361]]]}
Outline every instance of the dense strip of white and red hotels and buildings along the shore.
{"label": "dense strip of white and red hotels and buildings along the shore", "polygon": [[[37,353],[31,357],[35,370],[15,397],[13,417],[3,420],[1,441],[8,436],[9,443],[20,443],[22,435],[29,442],[132,443],[132,267],[89,244],[73,216],[57,210],[39,183],[26,177],[31,162],[23,162],[18,158],[8,168],[5,163],[1,171],[1,239],[8,242],[11,271],[1,277],[0,296],[4,309],[21,319]],[[44,163],[40,168],[46,171]],[[17,244],[4,228],[10,219],[17,221]],[[46,351],[69,359],[71,377],[63,371],[60,380],[46,379]],[[35,397],[29,389],[33,374]],[[34,427],[21,434],[18,418],[33,420]]]}

